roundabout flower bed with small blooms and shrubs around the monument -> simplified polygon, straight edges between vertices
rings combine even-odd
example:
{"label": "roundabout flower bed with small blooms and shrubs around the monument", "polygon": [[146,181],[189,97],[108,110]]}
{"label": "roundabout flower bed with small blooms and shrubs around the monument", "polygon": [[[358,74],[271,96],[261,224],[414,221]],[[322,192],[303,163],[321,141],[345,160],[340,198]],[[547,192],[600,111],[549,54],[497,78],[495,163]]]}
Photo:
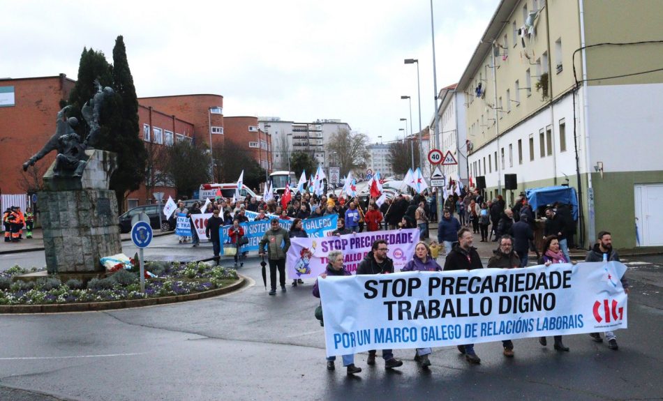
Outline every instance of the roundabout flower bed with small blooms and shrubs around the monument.
{"label": "roundabout flower bed with small blooms and shrubs around the monument", "polygon": [[204,262],[149,262],[146,270],[157,277],[146,278],[143,293],[140,292],[140,280],[135,271],[117,271],[107,278],[93,278],[87,285],[83,285],[80,280],[62,283],[54,275],[36,281],[13,281],[15,275],[39,270],[32,268],[28,271],[20,266],[12,266],[0,272],[0,305],[97,303],[185,296],[229,287],[240,280],[234,269],[210,266]]}

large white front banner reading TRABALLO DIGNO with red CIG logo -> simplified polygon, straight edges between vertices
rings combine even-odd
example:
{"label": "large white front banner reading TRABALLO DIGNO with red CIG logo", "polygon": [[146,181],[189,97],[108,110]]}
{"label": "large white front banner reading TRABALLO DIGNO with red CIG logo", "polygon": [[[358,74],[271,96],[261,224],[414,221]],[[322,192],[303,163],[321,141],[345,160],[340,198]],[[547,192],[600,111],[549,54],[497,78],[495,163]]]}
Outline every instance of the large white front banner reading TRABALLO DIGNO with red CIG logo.
{"label": "large white front banner reading TRABALLO DIGNO with red CIG logo", "polygon": [[627,328],[620,262],[327,276],[327,356]]}

